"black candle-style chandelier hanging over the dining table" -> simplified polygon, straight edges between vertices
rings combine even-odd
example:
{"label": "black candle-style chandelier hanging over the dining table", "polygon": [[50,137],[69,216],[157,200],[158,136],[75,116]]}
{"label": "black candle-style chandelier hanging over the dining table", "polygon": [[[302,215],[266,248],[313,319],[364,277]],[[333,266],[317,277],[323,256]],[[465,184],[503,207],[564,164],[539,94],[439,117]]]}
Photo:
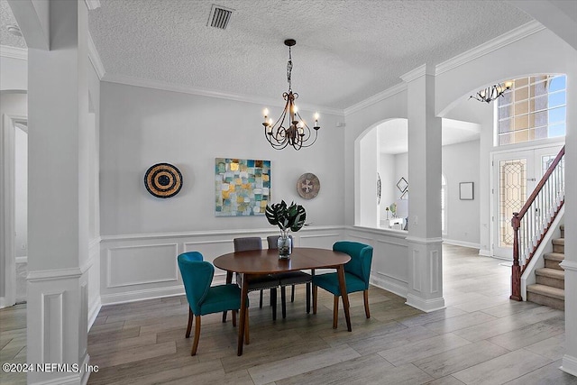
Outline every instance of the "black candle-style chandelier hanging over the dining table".
{"label": "black candle-style chandelier hanging over the dining table", "polygon": [[[297,41],[288,39],[285,45],[289,47],[289,62],[287,63],[287,81],[289,82],[289,91],[282,94],[285,100],[285,108],[279,116],[279,120],[273,124],[269,116],[269,110],[264,110],[264,136],[275,150],[282,150],[287,146],[292,146],[295,150],[303,147],[310,147],[316,142],[316,135],[320,129],[318,125],[318,114],[315,114],[315,126],[311,130],[303,118],[298,114],[295,100],[298,98],[296,92],[292,92],[290,84],[290,74],[292,72],[292,57],[290,47],[297,44]],[[287,122],[285,123],[285,120]],[[314,135],[313,135],[314,133]]]}

